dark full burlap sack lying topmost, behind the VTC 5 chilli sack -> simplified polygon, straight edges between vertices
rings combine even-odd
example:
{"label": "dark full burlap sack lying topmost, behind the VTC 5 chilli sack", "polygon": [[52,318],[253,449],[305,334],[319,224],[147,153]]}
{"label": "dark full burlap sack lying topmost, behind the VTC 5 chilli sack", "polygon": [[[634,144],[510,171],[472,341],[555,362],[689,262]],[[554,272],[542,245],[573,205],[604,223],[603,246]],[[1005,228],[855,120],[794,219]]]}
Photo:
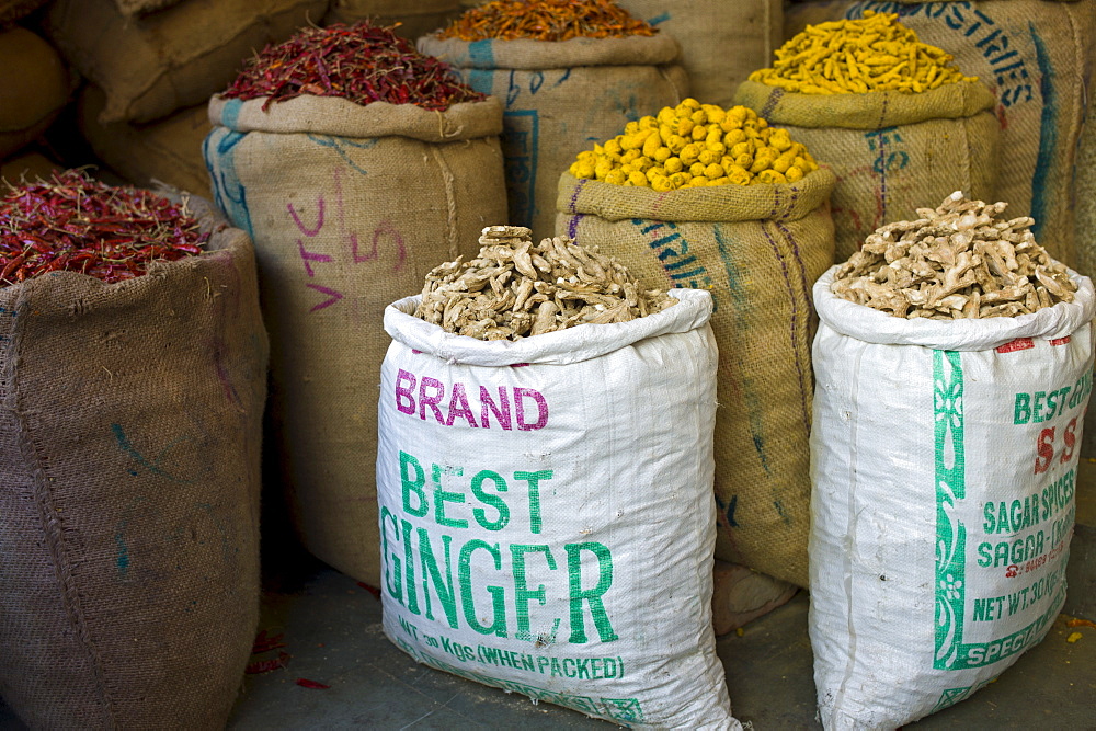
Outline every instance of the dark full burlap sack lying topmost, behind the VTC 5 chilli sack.
{"label": "dark full burlap sack lying topmost, behind the VTC 5 chilli sack", "polygon": [[185,0],[126,18],[114,0],[57,0],[44,27],[106,92],[103,122],[148,122],[208,101],[244,61],[323,16],[327,0]]}

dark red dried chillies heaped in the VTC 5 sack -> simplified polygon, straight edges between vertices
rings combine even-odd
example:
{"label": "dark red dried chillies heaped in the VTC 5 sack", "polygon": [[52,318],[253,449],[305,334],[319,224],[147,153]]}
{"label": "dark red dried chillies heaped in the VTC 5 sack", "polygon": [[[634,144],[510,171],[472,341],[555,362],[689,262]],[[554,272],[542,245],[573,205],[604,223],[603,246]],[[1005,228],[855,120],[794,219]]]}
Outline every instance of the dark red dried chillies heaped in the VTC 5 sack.
{"label": "dark red dried chillies heaped in the VTC 5 sack", "polygon": [[281,45],[266,46],[221,95],[265,96],[266,111],[273,102],[302,94],[437,111],[486,99],[460,83],[448,64],[420,54],[391,27],[367,21],[305,28]]}

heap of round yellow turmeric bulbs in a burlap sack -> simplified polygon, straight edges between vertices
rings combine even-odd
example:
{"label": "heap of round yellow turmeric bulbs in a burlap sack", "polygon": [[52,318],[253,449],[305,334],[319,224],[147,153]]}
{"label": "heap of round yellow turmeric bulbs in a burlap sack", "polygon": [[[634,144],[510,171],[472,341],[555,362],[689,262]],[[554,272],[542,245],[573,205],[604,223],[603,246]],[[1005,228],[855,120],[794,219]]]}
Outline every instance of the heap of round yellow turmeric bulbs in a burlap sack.
{"label": "heap of round yellow turmeric bulbs in a burlap sack", "polygon": [[695,99],[629,122],[623,134],[579,152],[570,167],[575,178],[660,193],[791,183],[813,170],[814,158],[787,129],[773,129],[749,107],[723,110]]}

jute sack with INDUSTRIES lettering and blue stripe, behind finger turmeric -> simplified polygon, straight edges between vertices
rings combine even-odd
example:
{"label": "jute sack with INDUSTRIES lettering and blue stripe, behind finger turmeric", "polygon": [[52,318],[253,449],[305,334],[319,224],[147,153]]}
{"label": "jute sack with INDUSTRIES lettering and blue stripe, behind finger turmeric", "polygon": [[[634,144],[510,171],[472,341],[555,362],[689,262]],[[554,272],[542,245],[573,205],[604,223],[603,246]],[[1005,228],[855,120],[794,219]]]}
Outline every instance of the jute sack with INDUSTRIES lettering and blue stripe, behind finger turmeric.
{"label": "jute sack with INDUSTRIES lettering and blue stripe, behind finger turmeric", "polygon": [[1035,218],[1039,243],[1076,269],[1071,202],[1096,2],[855,2],[846,15],[865,10],[899,13],[921,41],[944,48],[966,75],[993,89],[1001,122],[994,201],[1006,201],[1009,216]]}

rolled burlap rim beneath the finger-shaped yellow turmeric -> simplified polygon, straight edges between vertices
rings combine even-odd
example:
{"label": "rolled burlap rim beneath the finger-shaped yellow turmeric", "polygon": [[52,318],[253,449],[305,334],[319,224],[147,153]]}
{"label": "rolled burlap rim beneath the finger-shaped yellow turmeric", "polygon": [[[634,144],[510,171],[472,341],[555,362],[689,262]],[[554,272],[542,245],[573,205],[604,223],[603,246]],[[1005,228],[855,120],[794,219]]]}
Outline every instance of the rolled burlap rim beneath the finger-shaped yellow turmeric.
{"label": "rolled burlap rim beneath the finger-shaped yellow turmeric", "polygon": [[812,129],[883,129],[929,119],[967,119],[993,113],[997,98],[981,81],[943,84],[920,93],[801,94],[760,81],[743,81],[734,103],[747,106],[773,126]]}

